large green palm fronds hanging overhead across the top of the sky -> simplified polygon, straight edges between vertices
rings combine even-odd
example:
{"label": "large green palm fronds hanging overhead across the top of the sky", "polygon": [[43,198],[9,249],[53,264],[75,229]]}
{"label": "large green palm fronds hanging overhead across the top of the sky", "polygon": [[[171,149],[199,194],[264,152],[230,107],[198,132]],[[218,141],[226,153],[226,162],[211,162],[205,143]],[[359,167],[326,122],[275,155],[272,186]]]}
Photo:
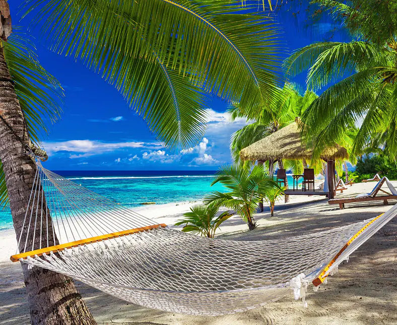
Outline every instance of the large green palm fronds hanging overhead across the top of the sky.
{"label": "large green palm fronds hanging overhead across the top of the sky", "polygon": [[243,107],[266,106],[275,93],[277,29],[266,13],[250,14],[257,4],[240,5],[28,0],[25,9],[42,23],[53,50],[101,73],[173,147],[201,138],[201,91]]}

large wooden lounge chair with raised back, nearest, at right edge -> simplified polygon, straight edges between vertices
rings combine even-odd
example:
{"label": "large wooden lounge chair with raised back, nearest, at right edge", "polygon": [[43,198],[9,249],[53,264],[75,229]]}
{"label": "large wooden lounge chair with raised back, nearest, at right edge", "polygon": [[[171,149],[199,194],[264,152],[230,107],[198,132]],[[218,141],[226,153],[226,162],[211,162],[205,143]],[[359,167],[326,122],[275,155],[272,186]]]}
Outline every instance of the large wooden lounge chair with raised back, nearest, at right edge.
{"label": "large wooden lounge chair with raised back, nearest, at right edge", "polygon": [[[381,188],[384,183],[386,183],[390,192],[386,192]],[[379,192],[383,192],[385,195],[378,195]],[[356,197],[330,199],[328,200],[328,203],[339,204],[339,208],[343,209],[345,207],[345,203],[383,201],[383,204],[387,205],[388,200],[397,200],[397,189],[395,189],[387,177],[383,177],[370,193],[359,194]]]}

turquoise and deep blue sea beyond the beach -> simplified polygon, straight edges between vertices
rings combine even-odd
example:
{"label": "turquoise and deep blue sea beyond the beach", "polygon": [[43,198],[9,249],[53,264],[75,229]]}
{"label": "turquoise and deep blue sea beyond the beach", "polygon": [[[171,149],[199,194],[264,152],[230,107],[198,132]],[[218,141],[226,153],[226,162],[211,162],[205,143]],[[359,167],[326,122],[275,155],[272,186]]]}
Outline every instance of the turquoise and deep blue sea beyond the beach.
{"label": "turquoise and deep blue sea beyond the beach", "polygon": [[[119,202],[127,207],[143,202],[156,204],[195,201],[212,191],[223,191],[220,184],[211,186],[214,171],[54,171],[69,180]],[[288,177],[292,187],[292,178]],[[0,210],[0,230],[12,228],[8,208]]]}

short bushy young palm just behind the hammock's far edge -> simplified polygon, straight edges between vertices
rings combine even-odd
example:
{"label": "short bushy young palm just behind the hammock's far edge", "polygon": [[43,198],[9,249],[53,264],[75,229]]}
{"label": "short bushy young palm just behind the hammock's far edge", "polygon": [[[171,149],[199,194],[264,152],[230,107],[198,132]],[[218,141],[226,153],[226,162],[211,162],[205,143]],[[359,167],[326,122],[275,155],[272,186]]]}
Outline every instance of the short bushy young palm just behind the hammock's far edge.
{"label": "short bushy young palm just behind the hammock's far edge", "polygon": [[221,224],[234,214],[224,211],[217,216],[219,207],[215,203],[195,204],[190,208],[190,212],[183,214],[184,219],[178,220],[175,226],[184,225],[183,232],[214,238],[215,232]]}

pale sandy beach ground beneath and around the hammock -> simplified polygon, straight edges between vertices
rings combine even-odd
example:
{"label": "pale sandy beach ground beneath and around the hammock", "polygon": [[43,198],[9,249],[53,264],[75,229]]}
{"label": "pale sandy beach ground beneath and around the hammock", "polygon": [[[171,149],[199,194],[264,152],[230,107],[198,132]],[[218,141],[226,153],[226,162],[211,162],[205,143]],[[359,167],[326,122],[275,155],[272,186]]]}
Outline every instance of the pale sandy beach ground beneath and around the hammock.
{"label": "pale sandy beach ground beneath and around the hammock", "polygon": [[[393,182],[397,187],[397,182]],[[339,196],[370,192],[375,183],[360,183]],[[344,210],[329,205],[323,197],[291,196],[289,204],[279,204],[275,216],[257,214],[258,228],[248,232],[237,217],[222,227],[219,238],[260,240],[295,236],[327,230],[373,218],[390,206],[382,201],[346,204]],[[391,201],[390,204],[397,203]],[[177,205],[178,204],[178,205]],[[172,225],[192,203],[180,202],[136,209],[156,222]],[[382,228],[353,255],[350,262],[326,286],[308,290],[308,308],[294,301],[292,294],[267,306],[219,317],[199,317],[167,313],[127,303],[80,282],[83,299],[99,324],[397,324],[397,219]],[[13,231],[0,233],[0,324],[28,324],[29,307],[19,263],[9,256],[16,246]]]}

